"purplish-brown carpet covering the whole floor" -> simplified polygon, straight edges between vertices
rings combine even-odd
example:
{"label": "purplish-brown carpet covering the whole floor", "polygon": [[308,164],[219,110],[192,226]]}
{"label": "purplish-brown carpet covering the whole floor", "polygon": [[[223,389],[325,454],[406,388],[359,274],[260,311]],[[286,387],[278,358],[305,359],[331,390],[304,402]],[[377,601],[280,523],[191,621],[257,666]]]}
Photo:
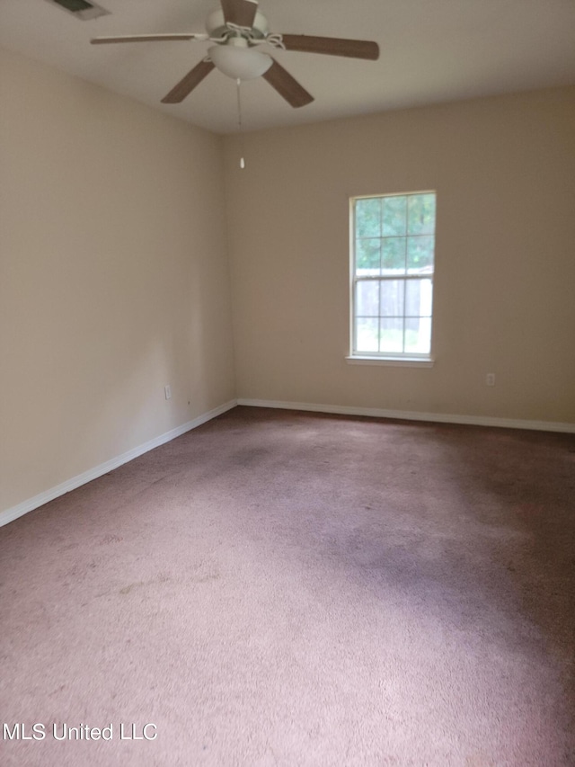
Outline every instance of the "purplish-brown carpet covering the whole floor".
{"label": "purplish-brown carpet covering the whole floor", "polygon": [[575,764],[573,435],[237,407],[0,557],[3,765]]}

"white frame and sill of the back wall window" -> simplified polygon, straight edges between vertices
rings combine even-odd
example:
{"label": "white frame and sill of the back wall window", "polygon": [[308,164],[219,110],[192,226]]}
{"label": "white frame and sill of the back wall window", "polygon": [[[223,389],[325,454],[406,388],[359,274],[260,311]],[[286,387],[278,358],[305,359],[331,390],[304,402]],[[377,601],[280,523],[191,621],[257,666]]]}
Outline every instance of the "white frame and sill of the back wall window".
{"label": "white frame and sill of the back wall window", "polygon": [[[425,276],[431,281],[431,308],[430,308],[430,324],[431,324],[431,337],[429,352],[361,352],[356,351],[356,285],[358,281],[379,281],[384,282],[388,280],[401,280],[403,281],[403,288],[410,280],[420,279],[420,274],[407,274],[403,275],[390,275],[390,276],[369,276],[358,277],[356,270],[356,202],[358,200],[385,200],[392,197],[411,197],[419,194],[433,194],[436,199],[436,222],[437,222],[437,192],[435,190],[425,190],[420,192],[393,192],[385,194],[364,194],[356,195],[349,198],[349,356],[346,360],[351,364],[380,364],[380,365],[404,365],[411,367],[432,367],[433,365],[433,293],[434,293],[434,277],[435,277],[435,229],[434,226],[434,257],[433,257],[433,270],[432,272],[426,272]],[[407,235],[407,233],[406,233]],[[385,236],[381,236],[382,240]],[[403,323],[406,320],[405,305],[403,306]],[[403,331],[405,332],[405,331]]]}

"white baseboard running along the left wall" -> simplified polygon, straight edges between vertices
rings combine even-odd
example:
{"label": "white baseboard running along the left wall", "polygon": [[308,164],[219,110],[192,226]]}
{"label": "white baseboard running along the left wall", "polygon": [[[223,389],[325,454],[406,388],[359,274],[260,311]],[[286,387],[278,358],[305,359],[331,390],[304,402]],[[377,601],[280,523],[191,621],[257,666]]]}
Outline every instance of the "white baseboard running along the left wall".
{"label": "white baseboard running along the left wall", "polygon": [[128,463],[129,460],[133,460],[138,456],[144,455],[144,453],[148,452],[149,450],[159,448],[160,445],[164,445],[166,442],[175,440],[176,437],[180,437],[181,434],[190,432],[191,429],[196,429],[198,426],[201,426],[201,424],[206,424],[206,422],[211,421],[212,418],[216,418],[217,415],[226,413],[227,410],[231,410],[236,405],[237,402],[235,399],[230,400],[230,402],[226,402],[225,405],[215,407],[208,413],[204,413],[199,415],[197,418],[194,418],[193,421],[188,421],[187,424],[177,426],[170,432],[160,434],[159,437],[155,437],[155,439],[147,441],[143,445],[138,445],[136,448],[116,456],[116,458],[107,460],[105,463],[100,464],[100,466],[90,468],[88,471],[84,471],[82,474],[78,474],[77,477],[72,477],[71,479],[66,480],[66,482],[62,482],[60,485],[50,487],[49,490],[46,490],[44,493],[40,493],[40,495],[34,495],[33,498],[29,498],[27,501],[23,501],[22,504],[18,504],[17,506],[13,506],[10,509],[6,509],[4,512],[0,512],[0,527],[2,527],[4,524],[8,524],[8,522],[13,522],[13,520],[18,519],[18,517],[22,517],[24,514],[27,514],[34,509],[37,509],[39,506],[48,504],[49,501],[53,501],[54,498],[58,498],[60,495],[69,493],[70,490],[75,490],[76,487],[80,487],[85,485],[87,482],[91,482],[93,479],[102,477],[102,475],[107,474],[114,468],[118,468],[119,466],[122,466],[122,464]]}

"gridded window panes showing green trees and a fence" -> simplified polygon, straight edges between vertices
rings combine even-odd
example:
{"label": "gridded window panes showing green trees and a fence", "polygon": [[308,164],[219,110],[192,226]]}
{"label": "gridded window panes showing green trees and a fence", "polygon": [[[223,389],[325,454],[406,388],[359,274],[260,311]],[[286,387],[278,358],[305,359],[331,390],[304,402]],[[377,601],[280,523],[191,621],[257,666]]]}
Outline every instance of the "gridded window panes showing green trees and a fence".
{"label": "gridded window panes showing green trees and a fence", "polygon": [[351,359],[429,360],[435,192],[351,201]]}

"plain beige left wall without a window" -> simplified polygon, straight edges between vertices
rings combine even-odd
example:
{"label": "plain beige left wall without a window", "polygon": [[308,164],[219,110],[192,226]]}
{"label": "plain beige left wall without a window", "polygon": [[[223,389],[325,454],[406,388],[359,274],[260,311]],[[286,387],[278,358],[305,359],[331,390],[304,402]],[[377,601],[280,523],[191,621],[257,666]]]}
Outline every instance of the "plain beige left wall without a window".
{"label": "plain beige left wall without a window", "polygon": [[234,378],[221,139],[6,51],[0,103],[2,511]]}

